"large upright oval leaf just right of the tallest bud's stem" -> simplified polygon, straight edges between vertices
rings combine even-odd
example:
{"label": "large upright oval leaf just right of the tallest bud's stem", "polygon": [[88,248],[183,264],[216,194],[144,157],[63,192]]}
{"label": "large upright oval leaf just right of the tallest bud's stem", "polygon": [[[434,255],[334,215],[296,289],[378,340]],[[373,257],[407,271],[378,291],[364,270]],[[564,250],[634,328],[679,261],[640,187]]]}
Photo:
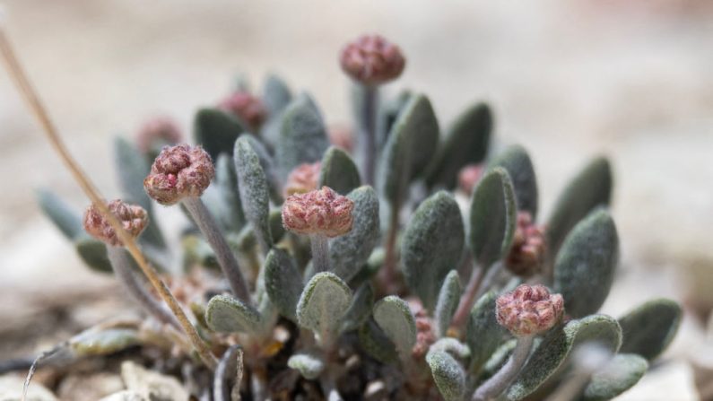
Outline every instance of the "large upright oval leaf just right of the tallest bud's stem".
{"label": "large upright oval leaf just right of the tallest bud's stem", "polygon": [[408,185],[428,166],[439,144],[439,122],[423,95],[412,96],[399,113],[379,163],[380,191],[396,210]]}

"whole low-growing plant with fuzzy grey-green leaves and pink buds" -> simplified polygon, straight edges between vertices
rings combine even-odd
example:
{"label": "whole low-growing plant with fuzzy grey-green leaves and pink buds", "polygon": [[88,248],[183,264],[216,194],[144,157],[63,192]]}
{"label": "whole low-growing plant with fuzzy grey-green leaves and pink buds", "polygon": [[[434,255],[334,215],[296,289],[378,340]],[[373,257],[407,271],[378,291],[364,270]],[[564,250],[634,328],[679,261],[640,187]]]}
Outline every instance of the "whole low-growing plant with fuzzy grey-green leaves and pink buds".
{"label": "whole low-growing plant with fuzzy grey-green leaves and pink buds", "polygon": [[[187,388],[219,401],[599,400],[635,385],[681,309],[597,313],[619,260],[609,161],[587,163],[543,218],[530,155],[494,144],[490,105],[441,133],[426,95],[381,91],[404,70],[396,45],[364,36],[339,60],[354,83],[353,136],[270,75],[259,94],[241,81],[198,110],[195,144],[165,118],[136,143],[118,137],[121,200],[82,217],[39,192],[87,266],[117,275],[143,309],[62,348],[152,349],[148,364],[203,371]],[[186,213],[179,249],[154,200]],[[190,327],[135,268],[134,240]]]}

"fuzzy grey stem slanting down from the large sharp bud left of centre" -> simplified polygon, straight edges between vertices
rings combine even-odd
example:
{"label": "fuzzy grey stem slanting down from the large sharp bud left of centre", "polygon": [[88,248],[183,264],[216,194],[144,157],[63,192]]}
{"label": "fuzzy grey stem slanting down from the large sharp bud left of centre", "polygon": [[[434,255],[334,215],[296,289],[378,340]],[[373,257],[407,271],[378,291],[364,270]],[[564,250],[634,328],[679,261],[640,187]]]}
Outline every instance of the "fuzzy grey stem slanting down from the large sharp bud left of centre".
{"label": "fuzzy grey stem slanting down from the large sharp bud left of centre", "polygon": [[190,196],[181,200],[181,203],[186,206],[189,214],[196,222],[198,229],[203,232],[205,240],[211,245],[215,251],[215,257],[218,258],[218,264],[222,268],[222,273],[228,279],[230,289],[239,298],[247,304],[250,304],[250,292],[248,292],[248,284],[245,278],[240,273],[238,259],[233,255],[228,241],[223,237],[218,224],[213,219],[213,216],[205,207],[200,197]]}

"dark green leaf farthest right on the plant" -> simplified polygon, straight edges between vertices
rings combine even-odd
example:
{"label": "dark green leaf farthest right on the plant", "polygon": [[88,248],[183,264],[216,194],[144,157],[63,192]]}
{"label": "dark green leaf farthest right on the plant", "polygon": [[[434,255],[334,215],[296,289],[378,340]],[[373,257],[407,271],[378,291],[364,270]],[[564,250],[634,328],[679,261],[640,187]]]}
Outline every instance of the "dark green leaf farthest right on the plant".
{"label": "dark green leaf farthest right on the plant", "polygon": [[638,353],[648,361],[663,353],[678,331],[682,310],[674,301],[648,301],[619,319],[622,353]]}

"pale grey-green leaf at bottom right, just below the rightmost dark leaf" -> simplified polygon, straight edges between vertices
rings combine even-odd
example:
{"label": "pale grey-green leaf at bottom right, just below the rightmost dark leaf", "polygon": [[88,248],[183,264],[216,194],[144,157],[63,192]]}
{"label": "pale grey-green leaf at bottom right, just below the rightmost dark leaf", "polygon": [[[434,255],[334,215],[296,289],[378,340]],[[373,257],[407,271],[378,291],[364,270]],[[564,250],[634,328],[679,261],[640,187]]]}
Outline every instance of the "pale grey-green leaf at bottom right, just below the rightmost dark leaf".
{"label": "pale grey-green leaf at bottom right, just below the rightmost dark leaf", "polygon": [[604,401],[634,387],[648,370],[646,359],[633,353],[620,353],[596,372],[582,396],[583,401]]}

